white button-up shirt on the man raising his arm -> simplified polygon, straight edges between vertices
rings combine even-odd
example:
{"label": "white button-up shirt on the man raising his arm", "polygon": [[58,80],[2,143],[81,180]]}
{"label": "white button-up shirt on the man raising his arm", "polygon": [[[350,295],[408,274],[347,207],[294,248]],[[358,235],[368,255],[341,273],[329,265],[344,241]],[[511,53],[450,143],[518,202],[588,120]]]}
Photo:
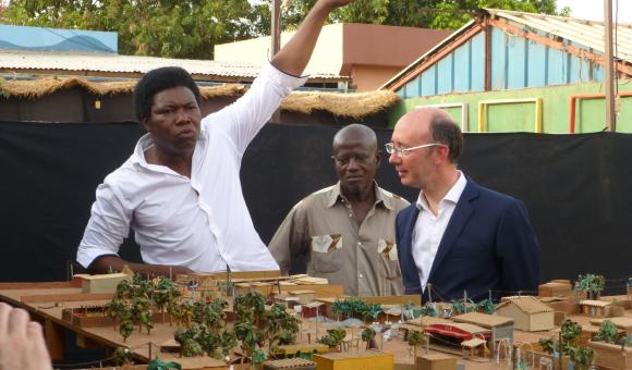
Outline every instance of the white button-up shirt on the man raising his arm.
{"label": "white button-up shirt on the man raising his arm", "polygon": [[[97,187],[96,200],[77,250],[88,267],[117,255],[130,226],[143,261],[185,266],[194,271],[278,270],[255,231],[240,182],[243,153],[281,99],[306,78],[266,65],[248,92],[207,115],[200,124],[191,178],[148,164],[149,134],[134,153]],[[270,159],[272,160],[272,159]]]}

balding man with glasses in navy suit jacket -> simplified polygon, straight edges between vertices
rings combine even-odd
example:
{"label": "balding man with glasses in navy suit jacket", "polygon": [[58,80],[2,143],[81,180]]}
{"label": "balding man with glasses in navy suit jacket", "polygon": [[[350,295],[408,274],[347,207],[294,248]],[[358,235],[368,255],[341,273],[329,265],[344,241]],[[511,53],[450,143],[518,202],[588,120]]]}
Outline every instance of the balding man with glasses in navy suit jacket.
{"label": "balding man with glasses in navy suit jacket", "polygon": [[459,126],[435,108],[402,116],[386,145],[401,183],[421,189],[396,219],[405,293],[475,301],[535,293],[539,245],[524,203],[459,171],[462,148]]}

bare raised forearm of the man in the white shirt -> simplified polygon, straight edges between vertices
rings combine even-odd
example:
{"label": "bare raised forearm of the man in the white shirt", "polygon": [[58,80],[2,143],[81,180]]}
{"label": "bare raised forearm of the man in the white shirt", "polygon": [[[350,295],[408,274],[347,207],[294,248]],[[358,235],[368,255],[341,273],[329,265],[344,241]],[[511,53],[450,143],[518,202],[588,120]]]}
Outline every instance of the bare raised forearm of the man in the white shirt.
{"label": "bare raised forearm of the man in the white shirt", "polygon": [[301,75],[309,62],[320,29],[329,13],[352,1],[354,0],[318,0],[294,36],[272,58],[272,64],[288,74]]}

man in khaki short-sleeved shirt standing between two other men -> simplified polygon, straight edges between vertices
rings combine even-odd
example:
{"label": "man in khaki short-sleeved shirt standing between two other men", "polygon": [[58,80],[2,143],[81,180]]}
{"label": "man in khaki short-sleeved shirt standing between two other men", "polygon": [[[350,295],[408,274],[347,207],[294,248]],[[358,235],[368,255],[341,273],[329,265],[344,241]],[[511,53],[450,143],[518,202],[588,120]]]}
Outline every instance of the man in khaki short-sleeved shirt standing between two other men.
{"label": "man in khaki short-sleeved shirt standing between two other men", "polygon": [[381,161],[373,130],[352,124],[333,137],[338,184],[301,200],[270,242],[272,257],[288,273],[302,256],[312,276],[327,278],[354,296],[401,295],[394,218],[408,207],[374,181]]}

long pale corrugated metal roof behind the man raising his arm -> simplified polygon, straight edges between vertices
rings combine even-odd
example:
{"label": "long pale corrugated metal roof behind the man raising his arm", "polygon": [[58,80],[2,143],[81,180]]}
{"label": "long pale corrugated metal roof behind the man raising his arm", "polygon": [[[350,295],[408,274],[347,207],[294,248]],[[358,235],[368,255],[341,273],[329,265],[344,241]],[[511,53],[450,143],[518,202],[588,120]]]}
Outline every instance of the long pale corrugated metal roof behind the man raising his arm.
{"label": "long pale corrugated metal roof behind the man raising his arm", "polygon": [[[243,62],[170,59],[155,57],[120,55],[113,53],[63,53],[23,50],[1,50],[0,70],[52,70],[93,73],[146,73],[161,66],[181,66],[193,75],[254,78],[262,65]],[[347,79],[333,74],[312,74],[311,78]]]}

